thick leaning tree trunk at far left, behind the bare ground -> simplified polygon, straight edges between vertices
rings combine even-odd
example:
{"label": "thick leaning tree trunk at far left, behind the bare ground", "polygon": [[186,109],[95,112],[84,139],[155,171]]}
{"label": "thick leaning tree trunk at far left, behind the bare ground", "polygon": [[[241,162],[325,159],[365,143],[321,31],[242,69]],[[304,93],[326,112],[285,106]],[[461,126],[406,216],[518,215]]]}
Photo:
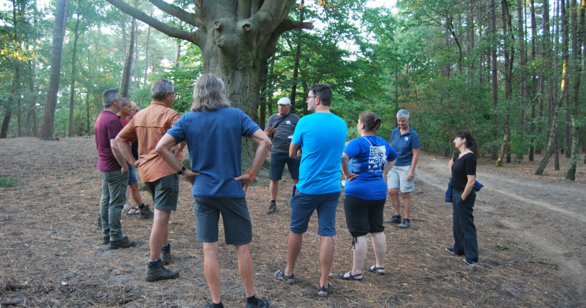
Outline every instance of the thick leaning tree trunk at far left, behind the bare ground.
{"label": "thick leaning tree trunk at far left, behind the bare ground", "polygon": [[59,75],[61,73],[61,52],[63,50],[63,37],[65,36],[65,24],[69,0],[57,0],[55,23],[53,25],[53,47],[51,52],[51,70],[49,74],[49,88],[47,88],[47,100],[43,108],[43,117],[40,125],[40,138],[53,140],[53,125],[55,107],[57,106],[57,91],[59,91]]}

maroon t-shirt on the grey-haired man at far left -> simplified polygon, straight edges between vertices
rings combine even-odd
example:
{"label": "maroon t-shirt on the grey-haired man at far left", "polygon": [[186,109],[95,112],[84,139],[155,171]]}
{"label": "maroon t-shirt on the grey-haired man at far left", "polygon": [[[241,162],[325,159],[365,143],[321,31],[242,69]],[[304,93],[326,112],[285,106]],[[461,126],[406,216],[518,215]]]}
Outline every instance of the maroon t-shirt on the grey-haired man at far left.
{"label": "maroon t-shirt on the grey-haired man at far left", "polygon": [[116,135],[122,130],[120,118],[109,110],[102,110],[96,119],[94,133],[96,134],[96,149],[98,150],[98,170],[110,172],[120,169],[118,160],[114,157],[110,140],[116,139]]}

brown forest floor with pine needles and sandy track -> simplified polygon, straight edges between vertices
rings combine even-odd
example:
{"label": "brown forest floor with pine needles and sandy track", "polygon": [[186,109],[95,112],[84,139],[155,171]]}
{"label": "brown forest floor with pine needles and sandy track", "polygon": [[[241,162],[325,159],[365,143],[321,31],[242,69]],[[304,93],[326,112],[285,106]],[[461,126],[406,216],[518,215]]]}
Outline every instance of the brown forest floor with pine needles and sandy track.
{"label": "brown forest floor with pine needles and sandy track", "polygon": [[[181,183],[178,211],[171,217],[170,268],[180,269],[180,276],[149,283],[142,277],[151,220],[123,216],[125,235],[137,241],[134,248],[109,251],[100,245],[101,181],[93,138],[2,139],[0,157],[0,176],[25,181],[0,188],[0,306],[201,307],[210,302],[188,183]],[[365,273],[362,282],[334,277],[352,265],[352,239],[338,207],[334,292],[327,299],[316,296],[315,217],[295,269],[298,282],[273,279],[285,266],[286,196],[292,182],[281,182],[278,211],[267,215],[268,180],[260,177],[247,194],[258,296],[272,307],[585,306],[586,166],[580,165],[578,180],[570,182],[553,163],[539,177],[532,175],[536,162],[492,165],[483,161],[477,174],[485,185],[475,207],[478,266],[464,265],[444,250],[452,244],[452,208],[443,202],[447,159],[422,155],[412,227],[386,225],[387,275]],[[145,191],[142,197],[150,204]],[[387,201],[389,217],[390,208]],[[373,262],[369,248],[367,263]],[[222,240],[220,264],[224,304],[243,307],[236,252]]]}

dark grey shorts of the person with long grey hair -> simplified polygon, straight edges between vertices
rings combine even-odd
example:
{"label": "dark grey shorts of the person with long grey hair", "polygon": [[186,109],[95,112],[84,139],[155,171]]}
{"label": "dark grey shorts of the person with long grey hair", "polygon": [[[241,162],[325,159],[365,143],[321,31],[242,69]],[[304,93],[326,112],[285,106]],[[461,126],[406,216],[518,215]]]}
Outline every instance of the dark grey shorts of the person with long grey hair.
{"label": "dark grey shorts of the person with long grey hair", "polygon": [[218,239],[220,214],[224,222],[224,238],[227,245],[244,245],[253,239],[246,198],[207,198],[193,196],[195,232],[200,242],[213,243]]}

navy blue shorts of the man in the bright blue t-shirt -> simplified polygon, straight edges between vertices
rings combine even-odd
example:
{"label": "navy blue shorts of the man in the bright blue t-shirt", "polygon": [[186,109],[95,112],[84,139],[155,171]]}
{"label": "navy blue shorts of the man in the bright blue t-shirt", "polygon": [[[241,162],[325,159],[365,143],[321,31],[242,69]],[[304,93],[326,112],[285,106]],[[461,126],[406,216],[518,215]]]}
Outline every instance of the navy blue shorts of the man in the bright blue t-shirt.
{"label": "navy blue shorts of the man in the bright blue t-shirt", "polygon": [[293,187],[291,196],[291,224],[289,230],[293,233],[304,233],[309,225],[309,218],[318,212],[318,235],[333,237],[336,235],[336,209],[341,191],[326,194],[304,194]]}

